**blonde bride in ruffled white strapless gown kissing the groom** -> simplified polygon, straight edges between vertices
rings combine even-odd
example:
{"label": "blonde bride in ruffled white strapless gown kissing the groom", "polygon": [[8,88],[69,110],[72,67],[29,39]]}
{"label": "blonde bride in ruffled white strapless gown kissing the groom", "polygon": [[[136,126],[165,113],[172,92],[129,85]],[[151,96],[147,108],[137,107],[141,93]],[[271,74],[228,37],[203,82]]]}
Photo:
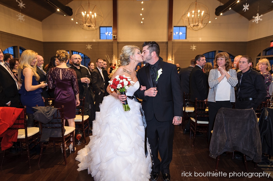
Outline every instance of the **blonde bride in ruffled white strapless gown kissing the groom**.
{"label": "blonde bride in ruffled white strapless gown kissing the groom", "polygon": [[[131,77],[135,82],[126,90],[133,96],[139,89],[135,68],[143,62],[140,49],[136,46],[124,46],[120,54],[120,66],[113,74]],[[145,87],[142,87],[145,89]],[[111,92],[104,97],[100,112],[96,112],[93,121],[93,136],[85,148],[78,151],[76,160],[80,170],[88,169],[95,181],[149,180],[152,167],[150,153],[144,153],[144,127],[140,113],[140,103],[127,99],[130,111],[123,110],[126,95]],[[147,142],[148,144],[148,142]],[[147,145],[147,148],[149,146]],[[150,151],[148,149],[148,151]]]}

